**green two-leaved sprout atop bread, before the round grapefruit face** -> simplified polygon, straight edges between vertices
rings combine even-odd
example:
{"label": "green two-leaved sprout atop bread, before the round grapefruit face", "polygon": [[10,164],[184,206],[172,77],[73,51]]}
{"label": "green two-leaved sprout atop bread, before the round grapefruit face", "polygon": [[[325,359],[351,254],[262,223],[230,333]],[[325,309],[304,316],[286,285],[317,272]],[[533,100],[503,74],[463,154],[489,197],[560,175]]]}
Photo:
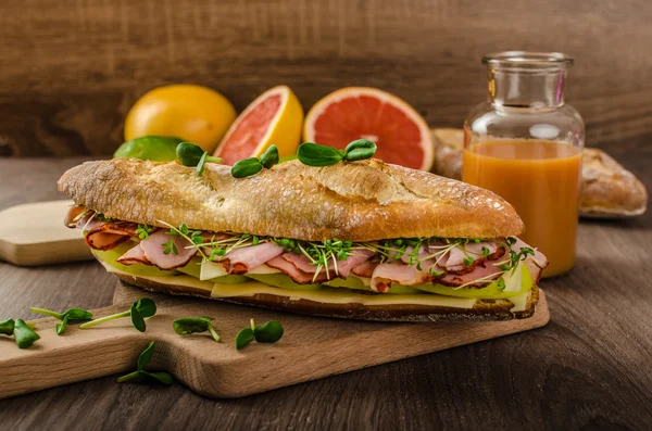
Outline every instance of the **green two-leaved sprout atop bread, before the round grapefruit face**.
{"label": "green two-leaved sprout atop bread, before the round grapefruit face", "polygon": [[368,139],[352,141],[343,151],[314,142],[304,142],[297,150],[297,159],[304,165],[322,167],[335,165],[341,161],[353,162],[371,159],[377,149],[376,143]]}

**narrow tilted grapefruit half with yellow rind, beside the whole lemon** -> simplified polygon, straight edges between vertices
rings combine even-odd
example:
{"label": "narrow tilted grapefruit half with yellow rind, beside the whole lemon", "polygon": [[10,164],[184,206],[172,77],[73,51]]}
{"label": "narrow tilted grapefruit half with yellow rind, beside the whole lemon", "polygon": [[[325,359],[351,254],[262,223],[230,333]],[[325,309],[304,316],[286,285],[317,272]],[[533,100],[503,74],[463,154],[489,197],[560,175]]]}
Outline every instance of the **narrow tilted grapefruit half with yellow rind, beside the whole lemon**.
{"label": "narrow tilted grapefruit half with yellow rind, beside the whole lemon", "polygon": [[278,154],[294,154],[301,139],[303,107],[287,86],[268,89],[259,96],[230,126],[213,155],[233,165],[247,157],[259,156],[271,145]]}

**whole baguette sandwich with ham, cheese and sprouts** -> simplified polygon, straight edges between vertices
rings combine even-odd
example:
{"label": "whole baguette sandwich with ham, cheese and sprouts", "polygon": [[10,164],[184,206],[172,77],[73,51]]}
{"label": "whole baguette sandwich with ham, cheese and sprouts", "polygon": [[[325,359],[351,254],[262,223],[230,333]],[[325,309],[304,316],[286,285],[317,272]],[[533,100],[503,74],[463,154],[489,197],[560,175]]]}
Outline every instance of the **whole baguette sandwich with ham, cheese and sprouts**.
{"label": "whole baguette sandwich with ham, cheese and sprouts", "polygon": [[246,178],[98,161],[59,188],[106,270],[172,294],[366,320],[527,318],[548,265],[497,194],[375,159]]}

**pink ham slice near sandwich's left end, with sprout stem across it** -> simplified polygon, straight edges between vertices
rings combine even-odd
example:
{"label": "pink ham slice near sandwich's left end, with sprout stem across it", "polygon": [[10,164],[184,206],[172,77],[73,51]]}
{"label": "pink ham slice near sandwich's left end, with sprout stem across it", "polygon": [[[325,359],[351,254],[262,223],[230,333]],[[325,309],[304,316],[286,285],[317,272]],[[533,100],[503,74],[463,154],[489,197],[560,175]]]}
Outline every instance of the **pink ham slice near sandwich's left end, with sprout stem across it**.
{"label": "pink ham slice near sandwich's left end, with sprout stem across it", "polygon": [[[147,259],[160,269],[174,269],[188,265],[197,254],[197,249],[190,246],[192,244],[187,239],[166,234],[165,232],[166,230],[163,229],[156,230],[140,241],[140,248],[142,248]],[[167,241],[174,241],[177,250],[176,254],[174,251],[165,254],[165,245],[163,244]]]}

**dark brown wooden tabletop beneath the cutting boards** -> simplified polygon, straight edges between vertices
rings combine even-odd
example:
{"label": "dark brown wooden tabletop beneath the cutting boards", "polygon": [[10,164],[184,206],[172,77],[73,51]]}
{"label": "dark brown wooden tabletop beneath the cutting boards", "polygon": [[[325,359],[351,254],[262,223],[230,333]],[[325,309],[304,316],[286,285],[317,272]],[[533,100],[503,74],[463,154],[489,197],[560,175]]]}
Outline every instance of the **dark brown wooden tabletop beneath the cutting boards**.
{"label": "dark brown wooden tabletop beneath the cutting boards", "polygon": [[[606,149],[650,188],[644,141]],[[0,208],[63,198],[55,181],[79,161],[0,159]],[[0,401],[0,428],[649,430],[651,243],[652,213],[582,221],[577,266],[542,283],[552,320],[531,332],[241,400],[106,377]],[[36,318],[29,306],[104,306],[114,286],[95,262],[0,264],[0,317]]]}

